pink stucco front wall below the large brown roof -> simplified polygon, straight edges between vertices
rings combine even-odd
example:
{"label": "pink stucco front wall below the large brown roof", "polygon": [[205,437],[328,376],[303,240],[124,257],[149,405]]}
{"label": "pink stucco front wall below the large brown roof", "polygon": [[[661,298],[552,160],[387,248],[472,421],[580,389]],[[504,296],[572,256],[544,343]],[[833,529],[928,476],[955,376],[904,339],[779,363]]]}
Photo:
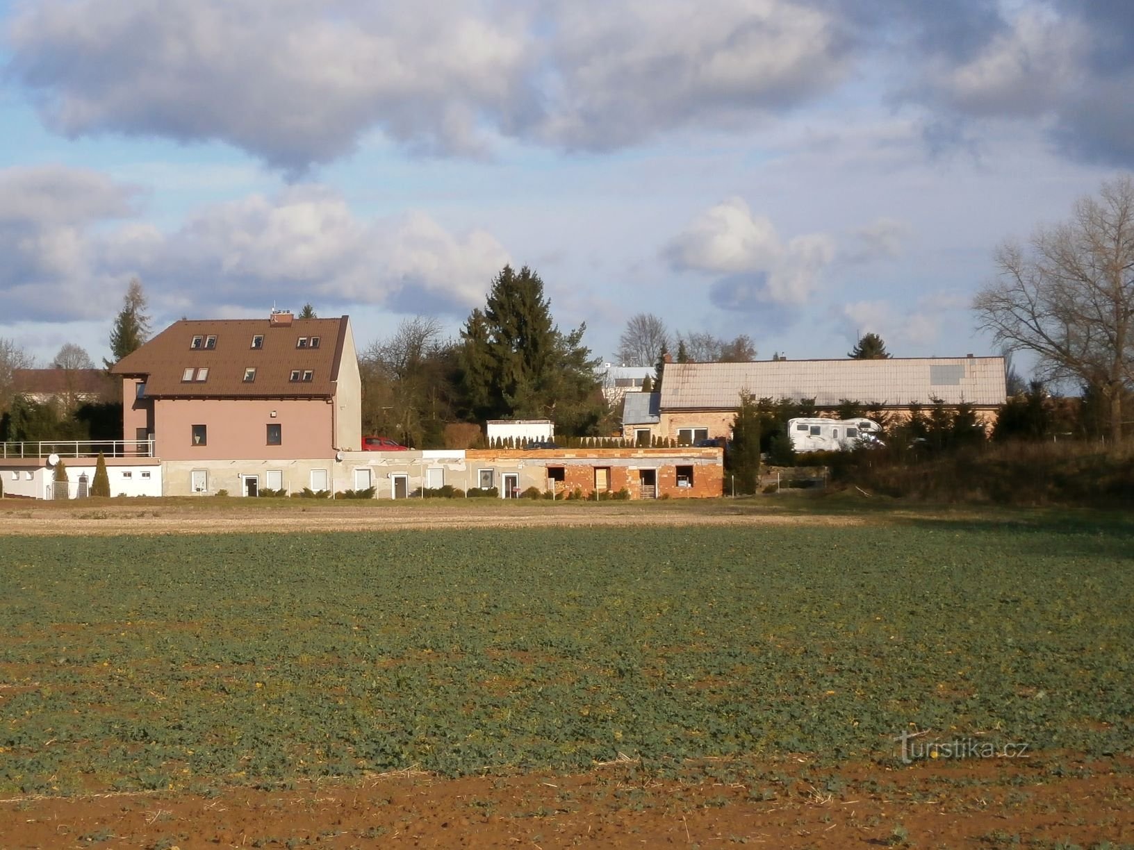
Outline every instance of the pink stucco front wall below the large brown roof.
{"label": "pink stucco front wall below the large brown roof", "polygon": [[[322,399],[155,399],[153,405],[156,454],[163,460],[327,458],[337,448],[335,406]],[[280,445],[268,444],[269,424],[280,425]],[[205,445],[193,444],[194,425],[206,426]]]}

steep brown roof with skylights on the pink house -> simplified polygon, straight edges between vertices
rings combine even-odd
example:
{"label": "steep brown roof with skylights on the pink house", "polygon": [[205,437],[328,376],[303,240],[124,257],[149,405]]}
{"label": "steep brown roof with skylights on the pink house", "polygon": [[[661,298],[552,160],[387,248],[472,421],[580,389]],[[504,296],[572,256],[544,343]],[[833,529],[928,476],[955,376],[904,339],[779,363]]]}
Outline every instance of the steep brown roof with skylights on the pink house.
{"label": "steep brown roof with skylights on the pink house", "polygon": [[[145,377],[145,393],[152,398],[330,398],[335,394],[342,358],[348,316],[341,318],[296,318],[274,324],[266,318],[183,320],[175,322],[142,348],[115,364],[116,375]],[[253,337],[262,335],[260,348]],[[193,348],[193,338],[201,347]],[[205,348],[215,337],[214,348]],[[298,348],[301,337],[307,348]],[[311,348],[319,337],[319,348]],[[186,369],[208,368],[204,381],[183,381]],[[245,369],[255,368],[253,381]],[[312,380],[291,381],[294,369],[312,372]]]}

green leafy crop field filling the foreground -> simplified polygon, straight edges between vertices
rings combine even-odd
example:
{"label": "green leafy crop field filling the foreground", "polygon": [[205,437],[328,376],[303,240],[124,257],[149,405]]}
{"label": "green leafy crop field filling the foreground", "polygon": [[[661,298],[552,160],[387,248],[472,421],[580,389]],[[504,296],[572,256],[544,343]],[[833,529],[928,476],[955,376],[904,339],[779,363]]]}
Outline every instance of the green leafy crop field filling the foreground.
{"label": "green leafy crop field filling the foreground", "polygon": [[0,792],[1134,747],[1134,525],[2,538]]}

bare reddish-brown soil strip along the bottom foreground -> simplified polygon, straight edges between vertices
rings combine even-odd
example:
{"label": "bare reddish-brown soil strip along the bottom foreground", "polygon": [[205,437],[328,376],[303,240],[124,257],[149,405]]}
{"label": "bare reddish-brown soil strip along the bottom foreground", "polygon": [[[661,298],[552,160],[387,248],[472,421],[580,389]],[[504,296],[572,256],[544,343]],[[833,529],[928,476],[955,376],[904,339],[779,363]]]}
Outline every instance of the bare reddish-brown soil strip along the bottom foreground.
{"label": "bare reddish-brown soil strip along the bottom foreground", "polygon": [[804,759],[792,759],[768,765],[776,780],[750,785],[652,780],[633,764],[613,764],[572,776],[443,780],[401,773],[291,791],[230,788],[209,797],[22,798],[0,801],[0,844],[168,850],[1134,842],[1134,764],[1084,766],[1068,758],[1063,765],[1065,775],[1055,777],[1023,759],[897,771],[874,765],[812,771]]}

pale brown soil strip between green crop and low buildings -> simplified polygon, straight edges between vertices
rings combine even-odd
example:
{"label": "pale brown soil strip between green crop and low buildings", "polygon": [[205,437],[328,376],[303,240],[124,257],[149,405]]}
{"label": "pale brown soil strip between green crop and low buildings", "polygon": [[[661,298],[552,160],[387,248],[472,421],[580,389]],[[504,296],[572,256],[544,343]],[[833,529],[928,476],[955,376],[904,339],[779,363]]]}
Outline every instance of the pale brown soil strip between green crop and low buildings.
{"label": "pale brown soil strip between green crop and low buildings", "polygon": [[[253,504],[247,504],[252,502]],[[306,503],[304,503],[306,502]],[[550,504],[499,500],[319,502],[307,500],[83,500],[0,503],[0,535],[379,532],[412,528],[598,527],[626,525],[860,525],[858,517],[792,513],[746,502]]]}

